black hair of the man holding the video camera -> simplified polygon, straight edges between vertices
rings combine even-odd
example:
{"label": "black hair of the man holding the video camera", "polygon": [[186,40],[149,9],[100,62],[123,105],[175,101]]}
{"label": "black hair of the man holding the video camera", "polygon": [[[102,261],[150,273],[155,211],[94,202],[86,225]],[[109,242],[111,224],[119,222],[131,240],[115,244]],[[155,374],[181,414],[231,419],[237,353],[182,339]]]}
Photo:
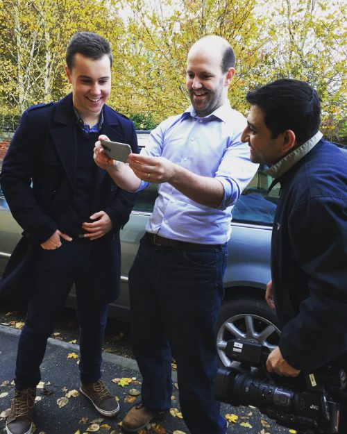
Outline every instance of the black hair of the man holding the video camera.
{"label": "black hair of the man holding the video camera", "polygon": [[321,100],[305,81],[281,78],[248,92],[246,99],[262,109],[272,138],[292,130],[296,141],[303,143],[319,130]]}

